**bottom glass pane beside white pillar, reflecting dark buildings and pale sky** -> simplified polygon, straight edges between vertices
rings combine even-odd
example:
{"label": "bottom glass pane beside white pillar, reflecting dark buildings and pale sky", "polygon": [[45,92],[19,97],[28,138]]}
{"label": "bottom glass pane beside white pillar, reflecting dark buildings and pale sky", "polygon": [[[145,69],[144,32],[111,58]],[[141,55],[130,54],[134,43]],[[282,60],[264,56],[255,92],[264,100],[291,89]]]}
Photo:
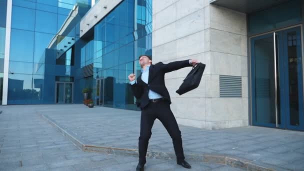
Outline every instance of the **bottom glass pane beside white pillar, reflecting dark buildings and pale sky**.
{"label": "bottom glass pane beside white pillar, reflecting dark buildings and pale sky", "polygon": [[7,104],[30,104],[32,74],[8,74]]}

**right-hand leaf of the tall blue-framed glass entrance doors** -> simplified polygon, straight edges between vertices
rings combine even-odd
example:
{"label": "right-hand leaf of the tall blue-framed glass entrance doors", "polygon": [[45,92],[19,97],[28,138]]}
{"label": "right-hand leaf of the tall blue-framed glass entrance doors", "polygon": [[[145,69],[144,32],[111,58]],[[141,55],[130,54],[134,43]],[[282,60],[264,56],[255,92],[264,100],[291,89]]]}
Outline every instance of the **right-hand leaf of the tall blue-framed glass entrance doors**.
{"label": "right-hand leaf of the tall blue-framed glass entrance doors", "polygon": [[283,37],[282,86],[284,95],[284,124],[288,129],[304,129],[303,111],[303,72],[300,27],[281,32]]}

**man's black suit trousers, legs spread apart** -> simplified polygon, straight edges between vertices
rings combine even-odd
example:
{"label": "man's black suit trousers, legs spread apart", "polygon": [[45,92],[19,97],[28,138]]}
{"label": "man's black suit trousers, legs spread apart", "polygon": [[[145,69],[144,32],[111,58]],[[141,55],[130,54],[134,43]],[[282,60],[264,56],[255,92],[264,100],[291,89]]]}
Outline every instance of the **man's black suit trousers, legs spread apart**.
{"label": "man's black suit trousers, legs spread apart", "polygon": [[145,156],[148,147],[148,141],[151,137],[151,129],[156,118],[161,121],[172,138],[177,161],[183,161],[184,155],[182,149],[181,133],[177,122],[170,109],[169,102],[160,100],[157,102],[150,102],[146,107],[144,107],[144,109],[141,110],[140,136],[138,138],[139,163],[144,164],[146,162]]}

